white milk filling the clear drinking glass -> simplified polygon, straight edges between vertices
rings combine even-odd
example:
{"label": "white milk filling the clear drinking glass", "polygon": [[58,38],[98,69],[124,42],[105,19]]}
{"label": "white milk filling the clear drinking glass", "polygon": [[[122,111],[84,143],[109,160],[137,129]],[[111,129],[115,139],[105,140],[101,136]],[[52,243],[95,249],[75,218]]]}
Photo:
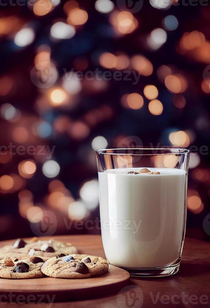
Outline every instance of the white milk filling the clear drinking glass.
{"label": "white milk filling the clear drinking glass", "polygon": [[120,267],[161,267],[180,256],[186,172],[99,172],[101,233],[107,260]]}

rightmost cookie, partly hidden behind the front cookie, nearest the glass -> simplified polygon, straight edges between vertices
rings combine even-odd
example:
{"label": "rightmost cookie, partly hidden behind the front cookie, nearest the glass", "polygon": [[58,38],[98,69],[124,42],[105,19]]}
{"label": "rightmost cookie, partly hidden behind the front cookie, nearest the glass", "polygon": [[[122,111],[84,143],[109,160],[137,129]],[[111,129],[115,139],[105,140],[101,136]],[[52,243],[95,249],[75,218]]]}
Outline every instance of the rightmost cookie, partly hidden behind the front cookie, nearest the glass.
{"label": "rightmost cookie, partly hidden behind the front cookie, nearest the glass", "polygon": [[74,259],[78,259],[85,263],[89,269],[91,276],[101,275],[108,271],[109,264],[108,262],[101,258],[96,256],[90,256],[90,255],[71,255]]}

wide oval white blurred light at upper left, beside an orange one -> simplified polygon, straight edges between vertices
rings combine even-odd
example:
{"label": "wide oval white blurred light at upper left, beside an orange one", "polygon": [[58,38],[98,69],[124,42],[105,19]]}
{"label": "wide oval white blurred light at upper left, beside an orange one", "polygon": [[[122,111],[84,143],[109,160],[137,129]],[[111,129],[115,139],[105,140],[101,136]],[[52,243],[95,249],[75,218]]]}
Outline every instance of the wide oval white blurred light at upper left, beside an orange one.
{"label": "wide oval white blurred light at upper left, beside an orange one", "polygon": [[55,39],[70,39],[75,35],[75,29],[71,25],[67,25],[62,21],[56,22],[50,29],[50,34]]}

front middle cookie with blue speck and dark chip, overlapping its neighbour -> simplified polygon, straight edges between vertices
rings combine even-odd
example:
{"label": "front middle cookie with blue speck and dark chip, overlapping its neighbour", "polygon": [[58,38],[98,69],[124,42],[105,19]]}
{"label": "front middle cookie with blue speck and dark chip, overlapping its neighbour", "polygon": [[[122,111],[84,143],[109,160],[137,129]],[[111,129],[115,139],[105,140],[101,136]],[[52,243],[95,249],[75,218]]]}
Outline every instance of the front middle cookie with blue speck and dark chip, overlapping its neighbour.
{"label": "front middle cookie with blue speck and dark chip, overlapping its neighbour", "polygon": [[89,269],[85,263],[74,259],[72,256],[50,258],[46,261],[41,271],[43,274],[55,278],[88,278]]}

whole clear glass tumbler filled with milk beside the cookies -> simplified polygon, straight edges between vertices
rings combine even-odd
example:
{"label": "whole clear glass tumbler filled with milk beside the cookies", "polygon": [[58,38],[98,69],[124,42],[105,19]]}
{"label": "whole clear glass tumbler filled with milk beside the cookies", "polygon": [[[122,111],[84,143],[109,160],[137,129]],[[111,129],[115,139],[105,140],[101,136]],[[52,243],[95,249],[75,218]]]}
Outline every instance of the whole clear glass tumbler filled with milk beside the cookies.
{"label": "whole clear glass tumbler filled with milk beside the cookies", "polygon": [[107,260],[132,276],[175,274],[185,236],[189,150],[105,149],[96,158]]}

